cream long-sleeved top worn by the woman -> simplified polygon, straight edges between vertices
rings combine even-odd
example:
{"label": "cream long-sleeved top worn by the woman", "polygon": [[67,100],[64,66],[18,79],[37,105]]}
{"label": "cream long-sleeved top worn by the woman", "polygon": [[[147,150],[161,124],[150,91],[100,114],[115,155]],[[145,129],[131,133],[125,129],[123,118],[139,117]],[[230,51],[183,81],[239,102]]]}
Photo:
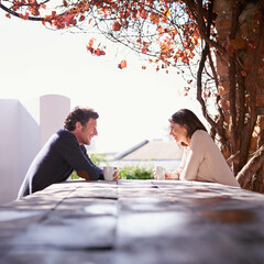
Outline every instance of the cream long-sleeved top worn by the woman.
{"label": "cream long-sleeved top worn by the woman", "polygon": [[197,130],[193,134],[177,170],[180,172],[179,179],[183,180],[212,182],[240,187],[219,147],[204,130]]}

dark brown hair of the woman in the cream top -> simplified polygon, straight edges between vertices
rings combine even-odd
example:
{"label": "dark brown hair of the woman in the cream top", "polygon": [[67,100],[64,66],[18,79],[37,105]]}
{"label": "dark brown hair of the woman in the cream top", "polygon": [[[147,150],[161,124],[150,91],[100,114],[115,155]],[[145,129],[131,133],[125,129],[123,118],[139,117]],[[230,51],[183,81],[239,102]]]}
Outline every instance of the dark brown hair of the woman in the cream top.
{"label": "dark brown hair of the woman in the cream top", "polygon": [[168,121],[179,125],[186,125],[187,136],[189,139],[197,130],[207,131],[206,127],[196,117],[196,114],[188,109],[180,109],[174,113]]}

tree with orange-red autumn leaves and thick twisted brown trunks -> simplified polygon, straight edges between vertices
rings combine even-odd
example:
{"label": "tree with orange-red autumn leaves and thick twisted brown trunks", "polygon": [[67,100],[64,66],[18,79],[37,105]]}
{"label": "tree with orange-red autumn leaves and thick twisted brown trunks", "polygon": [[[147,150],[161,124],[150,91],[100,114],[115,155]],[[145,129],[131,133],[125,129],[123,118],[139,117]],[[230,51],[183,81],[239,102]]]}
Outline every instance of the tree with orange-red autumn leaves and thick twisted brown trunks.
{"label": "tree with orange-red autumn leaves and thick twisted brown trunks", "polygon": [[[215,12],[216,2],[224,3],[230,13],[224,20],[230,23],[226,38],[220,37],[217,29],[222,25],[217,25],[220,13]],[[252,8],[250,4],[257,12],[250,22],[253,30],[243,35],[240,23]],[[186,95],[196,90],[211,135],[229,157],[241,186],[246,187],[254,177],[261,177],[263,131],[258,133],[256,151],[251,153],[250,147],[258,114],[256,91],[263,88],[263,84],[257,82],[264,67],[261,56],[263,0],[12,0],[1,1],[0,8],[9,18],[41,21],[52,29],[85,32],[97,29],[109,40],[147,56],[150,63],[156,64],[156,70],[176,67],[178,73],[188,76]],[[106,54],[106,46],[91,38],[87,51],[101,56]],[[246,53],[254,62],[252,67],[246,67]],[[217,62],[227,66],[228,95],[221,95],[224,79],[217,72]],[[127,67],[127,61],[118,67]],[[216,113],[209,111],[211,103]]]}

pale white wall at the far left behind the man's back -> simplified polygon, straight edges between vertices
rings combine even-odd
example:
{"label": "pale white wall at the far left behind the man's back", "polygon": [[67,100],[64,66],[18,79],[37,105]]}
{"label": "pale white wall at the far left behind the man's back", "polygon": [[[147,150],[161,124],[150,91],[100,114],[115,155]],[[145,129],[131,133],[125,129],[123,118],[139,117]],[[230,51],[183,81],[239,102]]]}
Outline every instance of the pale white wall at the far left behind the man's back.
{"label": "pale white wall at the far left behind the man's back", "polygon": [[0,99],[0,205],[16,198],[26,170],[40,151],[40,128],[14,99]]}

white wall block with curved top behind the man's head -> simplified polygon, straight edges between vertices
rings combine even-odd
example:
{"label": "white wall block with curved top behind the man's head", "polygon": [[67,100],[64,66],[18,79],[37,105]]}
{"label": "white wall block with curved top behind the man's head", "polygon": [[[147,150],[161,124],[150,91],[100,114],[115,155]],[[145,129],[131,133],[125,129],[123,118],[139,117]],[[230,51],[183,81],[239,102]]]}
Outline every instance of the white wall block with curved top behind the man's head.
{"label": "white wall block with curved top behind the man's head", "polygon": [[42,96],[40,99],[41,146],[50,136],[64,128],[64,121],[70,112],[70,99],[58,95]]}

